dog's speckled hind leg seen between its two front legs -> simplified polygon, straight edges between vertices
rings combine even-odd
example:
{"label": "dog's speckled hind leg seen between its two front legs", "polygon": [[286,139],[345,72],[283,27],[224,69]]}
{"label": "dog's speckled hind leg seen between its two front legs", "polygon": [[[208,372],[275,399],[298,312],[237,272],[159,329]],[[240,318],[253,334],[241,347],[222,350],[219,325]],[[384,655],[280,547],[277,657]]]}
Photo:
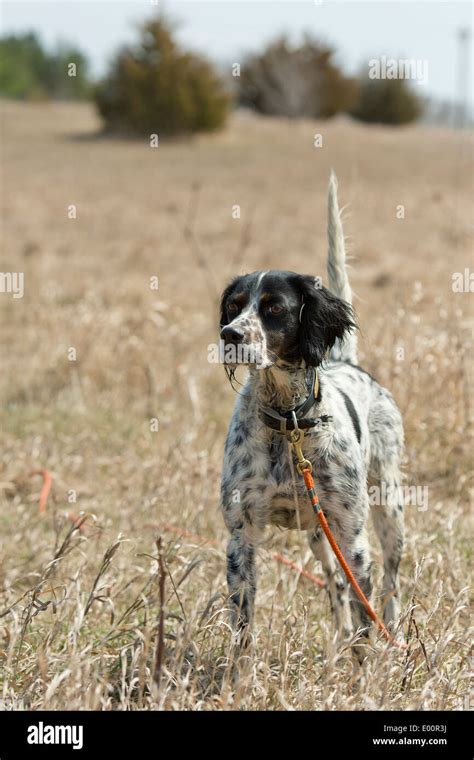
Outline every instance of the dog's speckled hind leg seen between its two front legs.
{"label": "dog's speckled hind leg seen between its two front legs", "polygon": [[338,635],[349,638],[352,636],[352,617],[347,580],[321,528],[309,530],[308,541],[315,558],[320,560],[323,566],[329,602]]}

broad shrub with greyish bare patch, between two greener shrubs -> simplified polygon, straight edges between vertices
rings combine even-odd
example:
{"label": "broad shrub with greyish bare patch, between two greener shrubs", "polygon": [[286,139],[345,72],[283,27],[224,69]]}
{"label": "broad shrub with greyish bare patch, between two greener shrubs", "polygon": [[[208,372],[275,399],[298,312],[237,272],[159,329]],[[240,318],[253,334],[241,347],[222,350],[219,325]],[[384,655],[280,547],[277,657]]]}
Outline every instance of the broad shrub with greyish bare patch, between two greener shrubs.
{"label": "broad shrub with greyish bare patch, between two greener shrubs", "polygon": [[237,78],[239,101],[261,113],[328,118],[354,104],[354,80],[333,61],[334,51],[306,36],[291,46],[285,37],[244,62]]}

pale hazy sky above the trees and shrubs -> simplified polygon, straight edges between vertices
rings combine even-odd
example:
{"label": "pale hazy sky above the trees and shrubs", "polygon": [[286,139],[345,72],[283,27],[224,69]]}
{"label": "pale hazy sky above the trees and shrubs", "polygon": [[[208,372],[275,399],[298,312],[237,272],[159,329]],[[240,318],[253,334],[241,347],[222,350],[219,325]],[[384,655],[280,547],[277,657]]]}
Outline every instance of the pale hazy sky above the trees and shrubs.
{"label": "pale hazy sky above the trees and shrubs", "polygon": [[[359,2],[359,0],[158,0],[181,22],[178,37],[220,64],[240,62],[248,51],[286,32],[298,40],[310,31],[332,43],[337,60],[355,73],[368,60],[385,55],[427,61],[422,94],[455,100],[458,92],[460,28],[472,30],[471,2]],[[35,30],[54,44],[68,40],[87,55],[100,76],[114,51],[136,39],[137,25],[156,13],[153,0],[7,0],[1,5],[1,31]],[[468,84],[472,83],[471,55]],[[466,86],[466,85],[465,85]],[[472,88],[471,88],[472,89]],[[472,99],[472,95],[471,95]]]}

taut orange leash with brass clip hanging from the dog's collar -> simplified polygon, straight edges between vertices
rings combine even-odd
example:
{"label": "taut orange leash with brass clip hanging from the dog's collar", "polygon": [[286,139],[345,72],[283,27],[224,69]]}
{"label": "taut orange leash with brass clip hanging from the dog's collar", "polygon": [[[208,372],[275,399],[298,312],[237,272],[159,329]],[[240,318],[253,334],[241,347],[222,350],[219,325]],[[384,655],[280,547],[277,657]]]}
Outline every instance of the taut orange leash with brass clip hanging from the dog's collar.
{"label": "taut orange leash with brass clip hanging from the dog's collar", "polygon": [[387,630],[383,622],[380,620],[379,616],[375,612],[374,608],[370,604],[369,600],[367,599],[366,595],[362,591],[361,587],[357,583],[356,578],[354,577],[354,574],[352,573],[352,570],[350,569],[349,565],[347,564],[346,560],[344,559],[344,556],[337,545],[336,539],[334,538],[331,528],[328,525],[328,521],[326,520],[326,516],[321,509],[321,504],[319,503],[318,495],[316,493],[316,487],[314,484],[314,479],[312,475],[312,465],[311,462],[308,459],[305,459],[303,456],[302,451],[302,443],[303,443],[303,437],[304,433],[302,430],[299,430],[296,428],[296,430],[291,431],[291,433],[288,433],[288,440],[292,444],[293,448],[296,451],[296,456],[298,459],[298,465],[297,469],[298,472],[303,476],[303,480],[305,482],[306,490],[308,492],[308,497],[311,503],[311,506],[313,508],[313,512],[317,516],[319,523],[321,525],[321,528],[323,529],[325,536],[327,540],[329,541],[331,548],[336,555],[339,564],[341,565],[342,569],[344,570],[344,573],[346,575],[347,580],[351,584],[352,588],[354,589],[355,593],[359,597],[360,601],[364,605],[367,614],[373,620],[379,631],[382,633],[382,635],[385,637],[385,639],[390,642],[395,647],[398,647],[399,649],[407,649],[406,644],[403,644],[400,641],[397,641],[391,633]]}

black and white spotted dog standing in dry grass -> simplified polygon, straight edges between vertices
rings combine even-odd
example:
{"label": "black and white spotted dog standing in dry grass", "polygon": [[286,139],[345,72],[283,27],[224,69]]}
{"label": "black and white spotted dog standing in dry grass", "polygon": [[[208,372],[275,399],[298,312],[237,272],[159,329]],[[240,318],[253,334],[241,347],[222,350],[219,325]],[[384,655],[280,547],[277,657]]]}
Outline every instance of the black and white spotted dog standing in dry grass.
{"label": "black and white spotted dog standing in dry grass", "polygon": [[[256,550],[265,526],[305,530],[321,560],[339,634],[368,632],[355,598],[318,527],[295,474],[285,431],[304,429],[304,455],[343,555],[362,590],[372,594],[369,511],[383,550],[385,624],[399,615],[403,547],[400,458],[403,426],[390,395],[357,365],[342,223],[334,175],[329,183],[329,289],[311,276],[279,270],[237,277],[222,295],[221,338],[245,356],[249,377],[230,423],[222,474],[222,508],[230,532],[227,580],[237,640],[248,642],[256,592]],[[238,363],[232,359],[229,366]],[[370,507],[368,486],[389,503]],[[296,495],[295,495],[296,484]],[[359,651],[360,656],[360,651]]]}

